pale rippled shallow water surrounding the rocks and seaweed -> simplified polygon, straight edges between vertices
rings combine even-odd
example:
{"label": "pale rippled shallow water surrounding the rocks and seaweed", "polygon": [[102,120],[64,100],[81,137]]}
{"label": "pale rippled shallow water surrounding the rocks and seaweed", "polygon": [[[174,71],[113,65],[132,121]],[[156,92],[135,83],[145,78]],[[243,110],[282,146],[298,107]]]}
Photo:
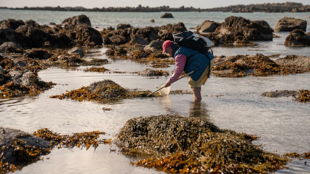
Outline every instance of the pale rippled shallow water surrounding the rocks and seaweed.
{"label": "pale rippled shallow water surrounding the rocks and seaweed", "polygon": [[[116,26],[118,23],[131,23],[134,27],[160,26],[167,23],[184,22],[186,27],[193,27],[202,20],[211,19],[223,22],[225,17],[241,15],[251,20],[266,20],[272,28],[284,16],[305,19],[310,13],[222,13],[222,12],[175,12],[174,19],[160,19],[161,13],[101,13],[101,12],[52,12],[52,11],[10,11],[0,10],[0,20],[7,18],[36,20],[41,24],[60,23],[63,19],[85,14],[90,17],[92,25],[100,28]],[[199,19],[197,18],[199,15]],[[156,23],[147,23],[155,19]],[[288,32],[276,33],[281,38],[273,41],[255,42],[255,47],[215,47],[215,55],[256,54],[271,55],[280,53],[310,56],[309,47],[291,48],[284,46]],[[248,51],[260,49],[263,51]],[[106,48],[95,49],[103,53]],[[86,59],[107,58],[104,55],[86,54]],[[134,72],[148,66],[124,60],[111,60],[105,68],[117,71]],[[81,69],[89,66],[79,67]],[[163,70],[172,71],[174,66]],[[256,144],[270,152],[283,154],[287,152],[310,151],[310,103],[292,101],[291,97],[268,98],[260,94],[274,90],[310,89],[310,73],[295,75],[278,75],[269,77],[219,78],[211,77],[202,87],[202,101],[193,102],[193,95],[168,95],[158,98],[136,98],[108,102],[83,101],[71,99],[58,100],[49,96],[64,93],[66,90],[88,86],[94,81],[111,79],[122,87],[154,90],[169,77],[142,77],[135,74],[109,74],[72,71],[49,68],[38,73],[44,81],[58,83],[55,87],[36,96],[21,96],[0,99],[0,126],[33,132],[47,127],[61,134],[73,132],[105,131],[102,138],[112,138],[125,122],[133,117],[160,114],[179,114],[185,117],[206,117],[222,129],[257,134]],[[174,83],[171,90],[185,89],[187,79]],[[213,95],[213,96],[212,96]],[[216,95],[224,95],[216,97]],[[102,108],[112,108],[103,111]],[[129,163],[131,159],[111,152],[115,145],[100,145],[93,151],[90,148],[79,150],[73,148],[54,149],[44,156],[44,161],[31,164],[16,173],[158,173],[146,168],[136,168]],[[46,159],[49,158],[49,159]],[[308,161],[308,163],[310,163]],[[304,161],[293,160],[289,169],[276,173],[309,173],[310,165]]]}

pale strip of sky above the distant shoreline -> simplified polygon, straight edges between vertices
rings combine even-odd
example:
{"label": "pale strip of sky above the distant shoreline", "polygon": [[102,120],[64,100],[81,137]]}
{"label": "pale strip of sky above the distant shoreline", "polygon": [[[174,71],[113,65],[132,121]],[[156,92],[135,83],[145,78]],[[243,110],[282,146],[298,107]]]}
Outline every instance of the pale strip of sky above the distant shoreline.
{"label": "pale strip of sky above the distant shoreline", "polygon": [[[283,3],[289,0],[0,0],[0,6],[7,7],[44,7],[44,6],[83,6],[85,8],[102,8],[102,7],[136,7],[139,4],[142,6],[157,7],[190,7],[195,8],[214,8],[224,7],[237,4],[261,4],[261,3]],[[303,3],[303,5],[310,5],[309,0],[290,0],[290,2]]]}

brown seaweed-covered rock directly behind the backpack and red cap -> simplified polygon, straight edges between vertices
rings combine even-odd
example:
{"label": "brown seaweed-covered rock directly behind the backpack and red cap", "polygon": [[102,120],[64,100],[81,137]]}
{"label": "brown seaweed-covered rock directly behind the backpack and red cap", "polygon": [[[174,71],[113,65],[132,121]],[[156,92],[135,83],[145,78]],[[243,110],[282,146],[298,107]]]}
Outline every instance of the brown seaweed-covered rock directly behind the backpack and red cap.
{"label": "brown seaweed-covered rock directly behind the backpack and red cap", "polygon": [[162,40],[174,40],[172,33],[180,33],[187,31],[184,23],[167,24],[160,27],[158,36]]}

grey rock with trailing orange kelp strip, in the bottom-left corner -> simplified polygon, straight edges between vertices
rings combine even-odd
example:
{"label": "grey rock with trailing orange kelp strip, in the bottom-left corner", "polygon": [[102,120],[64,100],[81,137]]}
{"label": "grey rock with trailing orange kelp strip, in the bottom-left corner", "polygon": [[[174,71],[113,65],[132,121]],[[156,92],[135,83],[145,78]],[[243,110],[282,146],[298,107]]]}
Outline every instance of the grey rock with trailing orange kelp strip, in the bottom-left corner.
{"label": "grey rock with trailing orange kelp strip, in the bottom-left corner", "polygon": [[96,149],[99,144],[111,144],[111,140],[99,139],[105,132],[92,131],[60,135],[47,128],[38,129],[33,134],[16,129],[0,127],[0,174],[21,170],[24,166],[41,160],[54,147],[69,148],[83,147],[88,150],[91,146]]}

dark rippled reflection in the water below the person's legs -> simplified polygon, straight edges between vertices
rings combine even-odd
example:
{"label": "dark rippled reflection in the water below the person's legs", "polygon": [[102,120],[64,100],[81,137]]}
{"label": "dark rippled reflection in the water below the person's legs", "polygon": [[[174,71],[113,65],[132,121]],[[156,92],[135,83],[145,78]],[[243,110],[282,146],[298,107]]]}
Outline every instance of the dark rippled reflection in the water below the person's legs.
{"label": "dark rippled reflection in the water below the person's legs", "polygon": [[189,117],[204,117],[210,120],[208,105],[203,101],[191,101],[188,108]]}

